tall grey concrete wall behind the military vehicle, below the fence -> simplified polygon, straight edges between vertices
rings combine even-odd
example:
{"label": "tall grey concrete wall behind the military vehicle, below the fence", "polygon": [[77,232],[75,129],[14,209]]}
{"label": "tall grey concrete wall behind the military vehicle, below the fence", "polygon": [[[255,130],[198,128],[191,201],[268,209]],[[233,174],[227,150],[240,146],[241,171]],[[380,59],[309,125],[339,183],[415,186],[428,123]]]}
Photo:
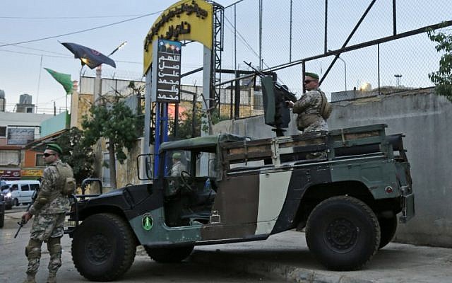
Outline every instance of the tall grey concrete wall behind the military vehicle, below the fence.
{"label": "tall grey concrete wall behind the military vehicle, below the fence", "polygon": [[[432,88],[333,103],[330,129],[360,125],[388,125],[387,134],[405,134],[411,163],[416,216],[399,224],[395,241],[452,247],[452,103]],[[295,116],[287,134],[297,133]],[[215,132],[275,137],[263,117],[224,121]]]}

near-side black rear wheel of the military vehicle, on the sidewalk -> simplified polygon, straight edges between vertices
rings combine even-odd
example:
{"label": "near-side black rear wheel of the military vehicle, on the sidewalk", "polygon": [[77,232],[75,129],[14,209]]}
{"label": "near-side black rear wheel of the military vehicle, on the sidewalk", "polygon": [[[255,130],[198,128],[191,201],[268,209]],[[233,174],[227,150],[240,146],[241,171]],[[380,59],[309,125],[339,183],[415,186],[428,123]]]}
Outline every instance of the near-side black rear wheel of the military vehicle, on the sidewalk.
{"label": "near-side black rear wheel of the military vehicle, on the sidewalk", "polygon": [[355,197],[331,197],[309,215],[306,241],[316,258],[331,270],[358,270],[380,244],[374,212]]}

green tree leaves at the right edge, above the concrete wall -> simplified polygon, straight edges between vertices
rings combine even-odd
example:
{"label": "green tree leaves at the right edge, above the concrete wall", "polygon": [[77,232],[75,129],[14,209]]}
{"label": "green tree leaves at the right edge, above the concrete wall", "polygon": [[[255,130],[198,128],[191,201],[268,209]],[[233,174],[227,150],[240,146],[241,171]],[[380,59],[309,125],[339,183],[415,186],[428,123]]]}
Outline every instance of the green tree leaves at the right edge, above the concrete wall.
{"label": "green tree leaves at the right edge, above the concrete wall", "polygon": [[439,60],[439,70],[429,74],[429,79],[435,84],[435,92],[446,96],[452,102],[452,35],[438,30],[427,30],[430,40],[436,42],[437,52],[444,52]]}

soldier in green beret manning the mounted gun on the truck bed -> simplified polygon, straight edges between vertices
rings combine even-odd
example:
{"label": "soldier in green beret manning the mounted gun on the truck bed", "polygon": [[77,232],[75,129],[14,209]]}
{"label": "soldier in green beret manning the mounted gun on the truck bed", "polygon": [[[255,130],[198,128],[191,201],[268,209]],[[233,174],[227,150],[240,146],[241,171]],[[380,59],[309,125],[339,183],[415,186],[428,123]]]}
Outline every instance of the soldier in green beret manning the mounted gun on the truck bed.
{"label": "soldier in green beret manning the mounted gun on the truck bed", "polygon": [[287,105],[298,114],[297,128],[303,133],[328,131],[326,119],[331,113],[331,105],[319,88],[319,75],[305,73],[303,83],[307,93],[295,103],[287,101]]}

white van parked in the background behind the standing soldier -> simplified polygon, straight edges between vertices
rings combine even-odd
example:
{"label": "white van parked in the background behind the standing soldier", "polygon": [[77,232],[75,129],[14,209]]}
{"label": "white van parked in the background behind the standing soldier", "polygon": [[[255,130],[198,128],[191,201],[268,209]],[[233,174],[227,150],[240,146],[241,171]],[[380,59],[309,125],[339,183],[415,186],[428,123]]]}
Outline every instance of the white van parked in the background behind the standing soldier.
{"label": "white van parked in the background behind the standing soldier", "polygon": [[6,181],[2,188],[5,197],[5,208],[11,209],[13,205],[28,204],[35,190],[39,190],[40,182],[37,180]]}

